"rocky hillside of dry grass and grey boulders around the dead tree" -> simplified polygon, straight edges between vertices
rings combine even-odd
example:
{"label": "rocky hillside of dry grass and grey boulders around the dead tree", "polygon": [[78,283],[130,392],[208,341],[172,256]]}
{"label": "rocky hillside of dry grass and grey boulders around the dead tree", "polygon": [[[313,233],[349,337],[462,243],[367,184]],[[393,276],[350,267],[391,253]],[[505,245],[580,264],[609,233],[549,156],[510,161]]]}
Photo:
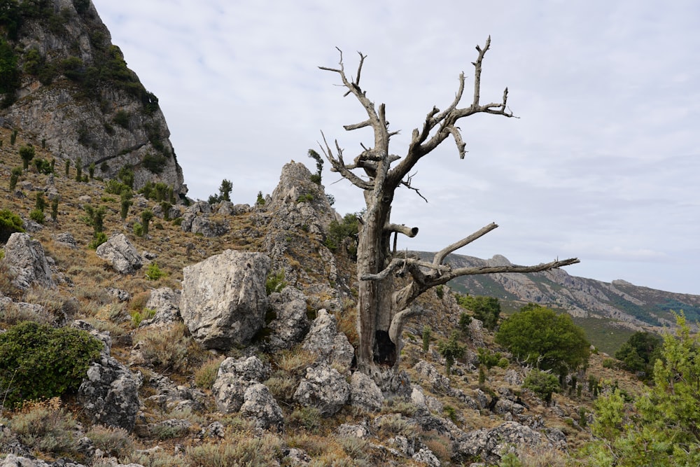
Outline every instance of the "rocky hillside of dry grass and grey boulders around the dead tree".
{"label": "rocky hillside of dry grass and grey boulders around the dead tree", "polygon": [[[324,243],[341,218],[304,165],[283,167],[264,203],[141,196],[122,221],[99,180],[30,169],[10,191],[23,137],[0,138],[2,209],[27,230],[3,248],[0,328],[72,326],[104,345],[76,393],[3,408],[0,466],[497,465],[511,452],[564,465],[590,438],[587,382],[638,390],[594,354],[546,404],[477,320],[446,376],[437,343],[465,310],[445,289],[422,298],[430,313],[407,326],[400,383],[382,392],[353,368],[353,263]],[[58,197],[55,221],[29,219],[36,193]],[[87,205],[106,208],[109,240],[96,250]],[[155,217],[141,237],[145,209]],[[505,363],[480,376],[479,349]]]}

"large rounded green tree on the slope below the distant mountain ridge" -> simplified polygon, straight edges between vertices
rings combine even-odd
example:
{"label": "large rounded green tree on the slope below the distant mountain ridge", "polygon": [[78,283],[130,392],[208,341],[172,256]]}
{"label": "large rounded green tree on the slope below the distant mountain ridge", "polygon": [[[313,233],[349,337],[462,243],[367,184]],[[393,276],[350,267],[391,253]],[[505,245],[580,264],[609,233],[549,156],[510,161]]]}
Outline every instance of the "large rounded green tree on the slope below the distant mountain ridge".
{"label": "large rounded green tree on the slope below the distant mountain ridge", "polygon": [[529,304],[500,324],[496,343],[521,361],[560,375],[587,363],[590,344],[568,314]]}

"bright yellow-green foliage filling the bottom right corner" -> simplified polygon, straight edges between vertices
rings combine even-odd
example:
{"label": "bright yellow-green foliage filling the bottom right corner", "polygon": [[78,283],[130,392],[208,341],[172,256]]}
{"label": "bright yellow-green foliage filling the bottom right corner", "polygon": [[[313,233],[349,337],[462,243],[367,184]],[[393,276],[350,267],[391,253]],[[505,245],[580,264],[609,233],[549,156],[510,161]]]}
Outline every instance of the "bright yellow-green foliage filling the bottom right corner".
{"label": "bright yellow-green foliage filling the bottom right corner", "polygon": [[619,389],[596,400],[591,426],[597,440],[584,455],[598,465],[700,465],[700,342],[691,336],[685,316],[676,316],[675,335],[664,336],[654,364],[654,385],[626,414]]}

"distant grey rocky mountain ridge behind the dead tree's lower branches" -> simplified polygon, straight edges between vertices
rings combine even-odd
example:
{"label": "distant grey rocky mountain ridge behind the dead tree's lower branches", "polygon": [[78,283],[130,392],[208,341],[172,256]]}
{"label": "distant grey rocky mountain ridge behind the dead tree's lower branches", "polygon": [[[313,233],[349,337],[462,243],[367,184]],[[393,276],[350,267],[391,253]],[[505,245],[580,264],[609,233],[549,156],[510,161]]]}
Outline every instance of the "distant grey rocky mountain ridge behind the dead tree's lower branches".
{"label": "distant grey rocky mountain ridge behind the dead tree's lower branches", "polygon": [[[432,258],[432,253],[419,254]],[[500,255],[482,260],[454,254],[447,263],[453,267],[511,264]],[[608,283],[585,279],[571,276],[565,270],[463,276],[449,285],[459,293],[497,297],[506,311],[533,302],[564,310],[577,318],[610,319],[631,329],[673,324],[672,311],[682,310],[691,322],[700,320],[700,295],[657,291],[623,280]]]}

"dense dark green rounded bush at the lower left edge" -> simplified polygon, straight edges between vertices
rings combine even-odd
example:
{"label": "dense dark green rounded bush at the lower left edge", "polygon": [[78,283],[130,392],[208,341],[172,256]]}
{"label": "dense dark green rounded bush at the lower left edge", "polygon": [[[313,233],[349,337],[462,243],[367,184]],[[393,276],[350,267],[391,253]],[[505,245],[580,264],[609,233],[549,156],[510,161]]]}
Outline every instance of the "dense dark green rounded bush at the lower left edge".
{"label": "dense dark green rounded bush at the lower left edge", "polygon": [[83,330],[32,321],[0,334],[0,389],[11,407],[22,400],[76,391],[103,344]]}

